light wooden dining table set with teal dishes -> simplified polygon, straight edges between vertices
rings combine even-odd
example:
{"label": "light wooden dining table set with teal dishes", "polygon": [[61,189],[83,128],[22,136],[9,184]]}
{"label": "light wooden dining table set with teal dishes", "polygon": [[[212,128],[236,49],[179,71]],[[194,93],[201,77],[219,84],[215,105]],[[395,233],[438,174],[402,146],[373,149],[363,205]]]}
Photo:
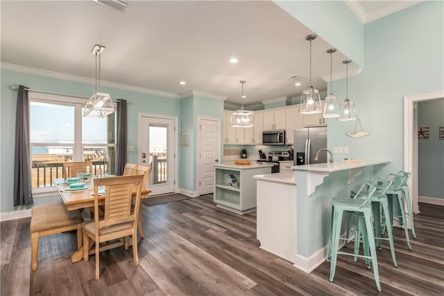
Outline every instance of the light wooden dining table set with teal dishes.
{"label": "light wooden dining table set with teal dishes", "polygon": [[[67,207],[68,211],[75,211],[77,209],[94,209],[94,178],[89,178],[89,182],[85,182],[85,188],[80,190],[71,190],[68,191],[69,183],[66,182],[65,179],[55,179],[53,180],[54,186],[62,198],[63,203]],[[149,198],[149,193],[151,190],[142,188],[141,198]],[[137,194],[137,186],[134,186],[133,189],[133,198]],[[105,204],[105,196],[99,195],[99,205]],[[142,202],[141,208],[142,208]],[[142,228],[142,218],[139,211],[139,216],[137,217],[137,226],[139,228],[140,237],[144,237],[143,228]],[[100,247],[100,252],[105,250],[110,250],[114,247],[119,247],[121,245],[125,245],[123,240],[108,242]],[[94,250],[89,250],[89,254],[93,254]],[[83,244],[80,249],[78,249],[72,256],[71,262],[78,262],[83,259]]]}

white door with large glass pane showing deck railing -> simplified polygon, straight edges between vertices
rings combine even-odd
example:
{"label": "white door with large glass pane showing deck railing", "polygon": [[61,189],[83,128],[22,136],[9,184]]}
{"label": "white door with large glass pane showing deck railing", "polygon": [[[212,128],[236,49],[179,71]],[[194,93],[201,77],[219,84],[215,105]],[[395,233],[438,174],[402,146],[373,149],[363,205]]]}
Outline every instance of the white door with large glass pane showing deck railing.
{"label": "white door with large glass pane showing deck railing", "polygon": [[161,116],[140,119],[139,163],[151,166],[147,187],[151,195],[176,189],[176,120]]}

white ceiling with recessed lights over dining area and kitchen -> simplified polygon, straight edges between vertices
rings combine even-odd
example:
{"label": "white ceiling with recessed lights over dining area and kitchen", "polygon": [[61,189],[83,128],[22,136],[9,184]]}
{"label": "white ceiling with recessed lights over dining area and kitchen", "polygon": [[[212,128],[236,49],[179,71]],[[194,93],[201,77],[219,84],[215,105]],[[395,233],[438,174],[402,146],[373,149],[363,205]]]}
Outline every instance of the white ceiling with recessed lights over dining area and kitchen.
{"label": "white ceiling with recessed lights over dining area and kitchen", "polygon": [[[388,6],[402,9],[400,2],[406,1],[346,1],[363,22]],[[240,103],[239,80],[246,80],[246,105],[298,96],[308,83],[295,87],[290,77],[309,77],[305,36],[311,33],[271,1],[133,1],[125,12],[94,1],[1,1],[3,68],[16,64],[94,84],[91,51],[101,44],[102,86],[118,83],[176,98],[194,90]],[[313,42],[312,76],[321,91],[331,47],[321,37]],[[228,62],[233,56],[239,63]],[[345,55],[333,57],[333,71],[343,71]]]}

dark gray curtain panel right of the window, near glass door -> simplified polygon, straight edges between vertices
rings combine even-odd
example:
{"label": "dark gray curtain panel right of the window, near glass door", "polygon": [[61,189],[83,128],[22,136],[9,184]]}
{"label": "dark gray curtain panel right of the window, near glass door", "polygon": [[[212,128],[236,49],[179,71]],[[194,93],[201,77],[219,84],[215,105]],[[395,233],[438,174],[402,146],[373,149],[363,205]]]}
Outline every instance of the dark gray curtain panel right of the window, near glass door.
{"label": "dark gray curtain panel right of the window, near glass door", "polygon": [[126,164],[126,139],[128,137],[126,100],[117,101],[116,175],[123,174]]}

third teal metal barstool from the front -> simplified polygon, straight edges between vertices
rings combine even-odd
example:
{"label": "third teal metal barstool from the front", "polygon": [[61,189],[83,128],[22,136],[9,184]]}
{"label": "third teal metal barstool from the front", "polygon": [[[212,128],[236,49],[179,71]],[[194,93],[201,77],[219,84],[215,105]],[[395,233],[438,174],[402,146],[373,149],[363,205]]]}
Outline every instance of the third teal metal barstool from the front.
{"label": "third teal metal barstool from the front", "polygon": [[[407,216],[409,216],[411,232],[413,234],[413,238],[416,238],[415,226],[413,225],[413,212],[411,211],[411,203],[409,197],[409,186],[407,182],[409,181],[410,173],[399,171],[395,174],[388,174],[387,179],[392,181],[392,185],[387,190],[388,198],[391,198],[392,202],[388,203],[388,207],[390,207],[390,218],[391,225],[393,227],[393,221],[398,221],[401,228],[404,228],[405,239],[407,241],[407,246],[409,250],[411,250],[410,238],[409,238],[409,229],[407,227]],[[395,199],[393,199],[395,196]],[[404,210],[404,207],[407,205],[407,213]],[[398,210],[398,214],[393,214],[393,207],[396,207]]]}

